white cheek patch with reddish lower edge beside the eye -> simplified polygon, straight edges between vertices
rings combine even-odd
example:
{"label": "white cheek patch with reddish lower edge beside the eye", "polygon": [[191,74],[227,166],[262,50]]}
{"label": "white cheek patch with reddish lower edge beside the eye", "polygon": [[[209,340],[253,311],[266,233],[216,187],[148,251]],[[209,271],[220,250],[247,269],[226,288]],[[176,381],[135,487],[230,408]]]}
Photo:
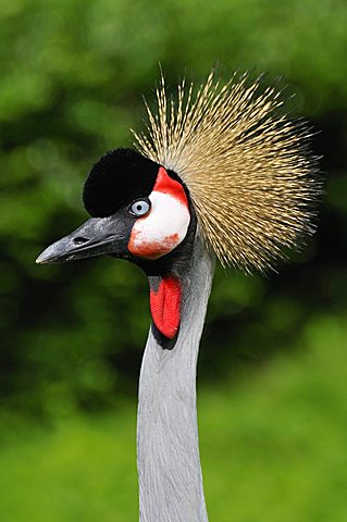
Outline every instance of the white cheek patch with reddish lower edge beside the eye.
{"label": "white cheek patch with reddish lower edge beside the eye", "polygon": [[151,211],[136,221],[128,250],[134,256],[158,259],[186,237],[190,214],[187,206],[170,194],[153,190],[149,200]]}

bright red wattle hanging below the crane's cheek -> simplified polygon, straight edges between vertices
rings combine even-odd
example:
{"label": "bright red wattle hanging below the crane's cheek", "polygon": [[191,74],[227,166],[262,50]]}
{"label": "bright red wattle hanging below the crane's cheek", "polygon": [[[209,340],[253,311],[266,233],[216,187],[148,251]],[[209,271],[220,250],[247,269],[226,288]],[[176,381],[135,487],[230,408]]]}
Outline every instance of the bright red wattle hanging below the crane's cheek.
{"label": "bright red wattle hanging below the crane's cheek", "polygon": [[181,283],[176,277],[166,277],[158,290],[150,289],[149,303],[153,323],[159,332],[173,339],[181,321]]}

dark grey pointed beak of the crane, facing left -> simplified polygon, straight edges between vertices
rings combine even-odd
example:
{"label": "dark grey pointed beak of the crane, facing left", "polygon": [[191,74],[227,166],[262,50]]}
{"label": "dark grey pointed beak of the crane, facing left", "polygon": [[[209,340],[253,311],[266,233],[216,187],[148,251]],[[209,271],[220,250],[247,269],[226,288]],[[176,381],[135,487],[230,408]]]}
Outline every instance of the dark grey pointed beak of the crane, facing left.
{"label": "dark grey pointed beak of the crane, facing left", "polygon": [[126,257],[128,236],[129,231],[121,219],[91,217],[46,248],[36,263],[61,263],[102,254]]}

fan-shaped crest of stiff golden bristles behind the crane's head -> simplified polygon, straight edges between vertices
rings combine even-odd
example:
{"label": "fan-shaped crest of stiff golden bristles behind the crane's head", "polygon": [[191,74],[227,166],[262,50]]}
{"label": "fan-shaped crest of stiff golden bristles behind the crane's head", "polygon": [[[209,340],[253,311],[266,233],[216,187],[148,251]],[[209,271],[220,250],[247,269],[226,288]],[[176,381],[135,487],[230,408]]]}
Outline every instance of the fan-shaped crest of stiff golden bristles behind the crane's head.
{"label": "fan-shaped crest of stiff golden bristles behind the crane's head", "polygon": [[147,133],[135,136],[147,158],[187,186],[207,244],[223,265],[265,271],[314,232],[321,192],[310,132],[280,112],[282,92],[261,91],[248,74],[223,83],[181,82],[169,98],[164,76],[157,110],[147,102]]}

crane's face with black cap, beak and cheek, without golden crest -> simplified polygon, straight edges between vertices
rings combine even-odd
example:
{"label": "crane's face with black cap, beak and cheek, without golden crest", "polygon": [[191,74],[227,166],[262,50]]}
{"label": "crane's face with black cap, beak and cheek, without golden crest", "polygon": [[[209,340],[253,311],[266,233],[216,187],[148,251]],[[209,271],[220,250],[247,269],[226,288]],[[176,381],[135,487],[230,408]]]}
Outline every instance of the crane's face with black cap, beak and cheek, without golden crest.
{"label": "crane's face with black cap, beak and cheek, without golden crest", "polygon": [[194,232],[179,178],[129,149],[116,149],[91,169],[84,187],[86,223],[48,247],[38,263],[110,254],[160,271]]}

